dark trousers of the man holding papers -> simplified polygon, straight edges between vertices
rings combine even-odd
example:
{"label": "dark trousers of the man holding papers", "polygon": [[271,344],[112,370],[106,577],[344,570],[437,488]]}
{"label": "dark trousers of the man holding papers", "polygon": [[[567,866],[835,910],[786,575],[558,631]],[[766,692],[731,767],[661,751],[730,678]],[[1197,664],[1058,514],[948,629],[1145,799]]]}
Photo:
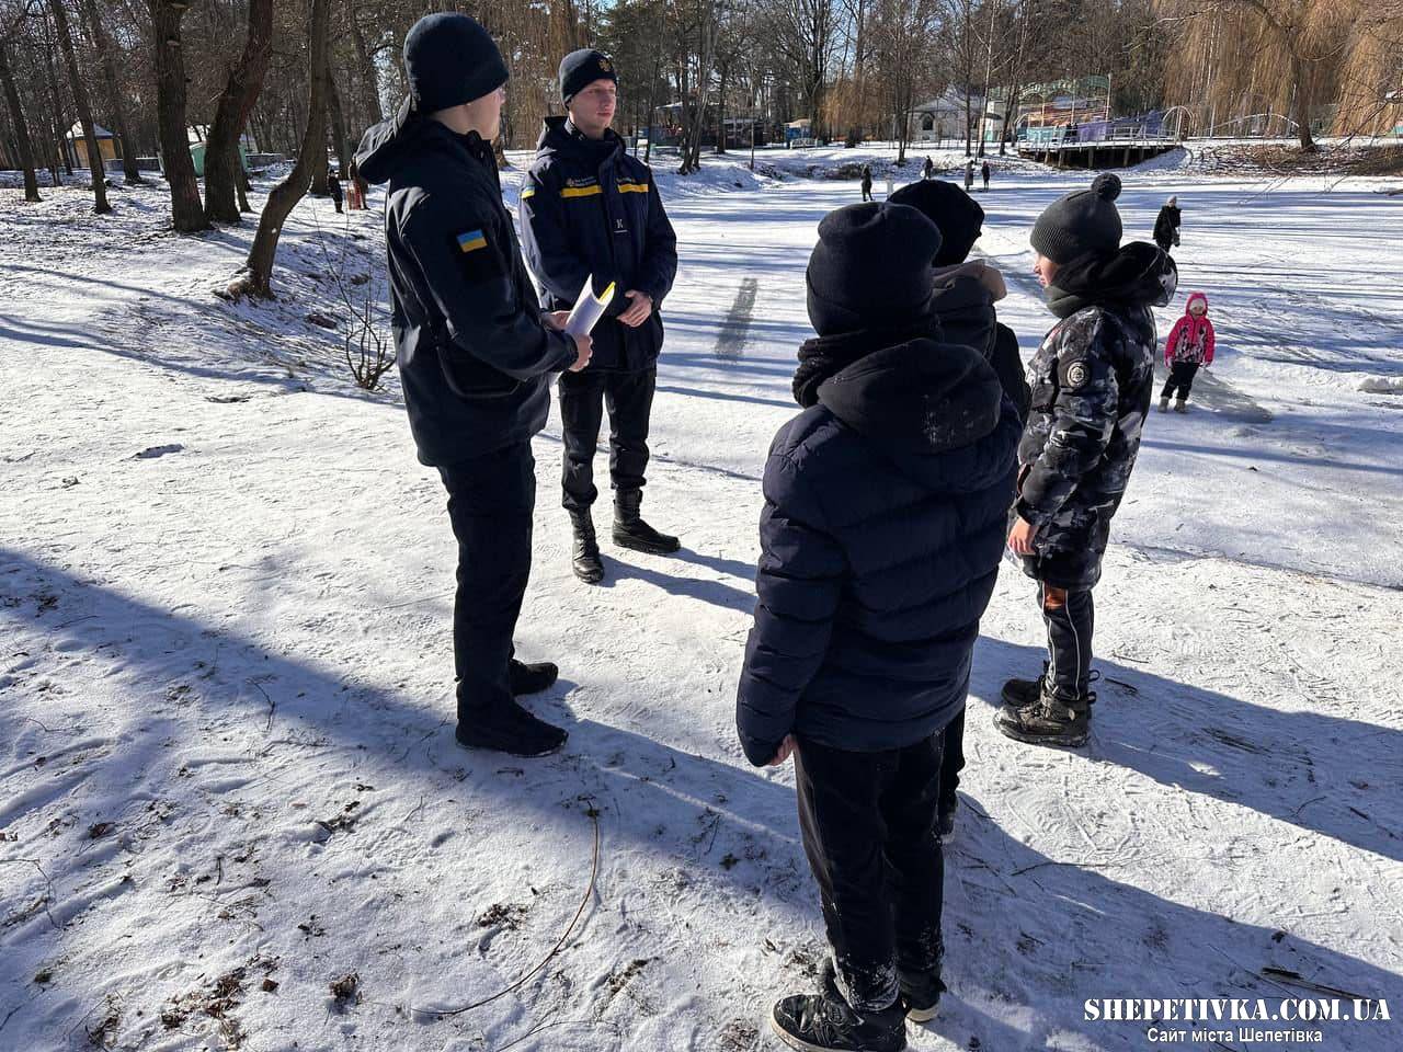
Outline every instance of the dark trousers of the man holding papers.
{"label": "dark trousers of the man holding papers", "polygon": [[512,697],[506,665],[530,578],[536,460],[530,443],[441,467],[448,516],[457,537],[453,669],[457,718]]}

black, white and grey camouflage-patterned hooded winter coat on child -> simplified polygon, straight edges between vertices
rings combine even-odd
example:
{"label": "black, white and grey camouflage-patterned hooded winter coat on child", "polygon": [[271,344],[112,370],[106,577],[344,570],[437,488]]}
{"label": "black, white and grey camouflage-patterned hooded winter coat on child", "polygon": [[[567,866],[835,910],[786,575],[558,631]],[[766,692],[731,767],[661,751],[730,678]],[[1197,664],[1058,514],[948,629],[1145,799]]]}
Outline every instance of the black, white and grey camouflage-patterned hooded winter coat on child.
{"label": "black, white and grey camouflage-patterned hooded winter coat on child", "polygon": [[1145,241],[1085,255],[1047,290],[1061,321],[1028,366],[1033,411],[1019,445],[1019,515],[1037,527],[1028,575],[1092,588],[1125,495],[1155,384],[1155,316],[1174,261]]}

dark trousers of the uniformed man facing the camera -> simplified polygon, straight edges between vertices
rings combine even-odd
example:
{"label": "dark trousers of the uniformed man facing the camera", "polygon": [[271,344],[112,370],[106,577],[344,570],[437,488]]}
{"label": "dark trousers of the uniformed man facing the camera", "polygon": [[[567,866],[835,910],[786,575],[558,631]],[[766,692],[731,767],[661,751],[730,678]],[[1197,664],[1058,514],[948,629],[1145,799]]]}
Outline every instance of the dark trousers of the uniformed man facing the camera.
{"label": "dark trousers of the uniformed man facing the camera", "polygon": [[595,488],[595,446],[609,407],[609,480],[615,490],[640,490],[648,467],[648,418],[658,370],[617,373],[585,369],[560,375],[560,419],[565,443],[561,485],[565,511],[588,511]]}

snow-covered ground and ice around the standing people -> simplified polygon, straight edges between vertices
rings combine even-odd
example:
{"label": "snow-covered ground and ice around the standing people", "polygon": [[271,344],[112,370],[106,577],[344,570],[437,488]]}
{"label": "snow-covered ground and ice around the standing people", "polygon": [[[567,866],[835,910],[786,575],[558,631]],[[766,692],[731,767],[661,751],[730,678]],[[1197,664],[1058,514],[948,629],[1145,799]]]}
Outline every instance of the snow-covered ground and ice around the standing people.
{"label": "snow-covered ground and ice around the standing people", "polygon": [[[453,743],[442,488],[393,375],[361,393],[325,328],[328,271],[383,288],[376,213],[304,202],[283,299],[230,306],[212,290],[248,227],[161,233],[156,188],[108,219],[0,191],[0,1048],[772,1042],[821,920],[791,771],[744,762],[734,686],[804,261],[857,188],[739,160],[661,180],[683,265],[645,511],[685,550],[606,550],[578,585],[556,421],[537,442],[519,648],[560,662],[533,706],[571,739],[535,763]],[[1028,355],[1049,317],[1027,230],[1086,178],[1020,163],[982,196]],[[1134,236],[1180,196],[1219,356],[1195,412],[1150,421],[1117,518],[1083,750],[991,725],[1041,655],[1006,567],[920,1051],[1152,1046],[1087,1020],[1100,997],[1330,987],[1403,1013],[1399,184],[1125,180]],[[1207,1046],[1403,1046],[1396,1021],[1317,1028]]]}

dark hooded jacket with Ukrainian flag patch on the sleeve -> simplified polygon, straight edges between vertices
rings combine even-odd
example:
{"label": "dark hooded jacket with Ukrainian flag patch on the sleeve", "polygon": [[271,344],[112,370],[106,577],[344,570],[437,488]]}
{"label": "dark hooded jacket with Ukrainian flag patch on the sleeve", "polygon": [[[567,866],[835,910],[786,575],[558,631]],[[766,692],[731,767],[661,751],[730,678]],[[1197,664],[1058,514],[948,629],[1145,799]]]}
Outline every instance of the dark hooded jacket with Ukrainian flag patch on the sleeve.
{"label": "dark hooded jacket with Ukrainian flag patch on the sleeve", "polygon": [[356,168],[390,184],[391,321],[419,460],[532,438],[550,411],[547,377],[574,365],[575,345],[542,320],[491,146],[405,104],[365,133]]}

